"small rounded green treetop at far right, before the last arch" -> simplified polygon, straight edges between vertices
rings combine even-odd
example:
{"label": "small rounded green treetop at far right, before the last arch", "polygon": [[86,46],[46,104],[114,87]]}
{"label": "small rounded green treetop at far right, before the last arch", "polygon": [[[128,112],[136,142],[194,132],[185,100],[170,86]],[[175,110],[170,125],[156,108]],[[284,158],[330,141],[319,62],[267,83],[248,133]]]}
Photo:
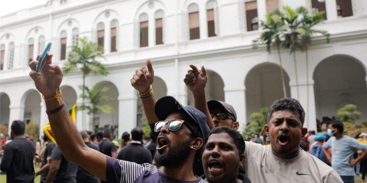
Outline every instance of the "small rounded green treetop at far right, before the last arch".
{"label": "small rounded green treetop at far right, before the last arch", "polygon": [[337,111],[337,119],[342,122],[356,122],[359,118],[361,118],[361,112],[357,110],[357,105],[351,103]]}

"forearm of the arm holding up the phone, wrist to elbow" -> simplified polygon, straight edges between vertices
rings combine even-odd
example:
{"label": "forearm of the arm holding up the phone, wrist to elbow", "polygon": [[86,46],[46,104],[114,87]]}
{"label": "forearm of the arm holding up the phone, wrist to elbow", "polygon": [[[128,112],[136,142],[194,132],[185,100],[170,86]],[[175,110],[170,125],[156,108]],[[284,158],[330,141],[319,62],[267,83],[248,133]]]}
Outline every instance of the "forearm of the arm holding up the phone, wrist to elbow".
{"label": "forearm of the arm holding up the phone, wrist to elbow", "polygon": [[[62,102],[48,101],[46,109],[48,111],[59,107]],[[81,151],[85,146],[79,132],[74,123],[69,118],[67,108],[64,106],[57,113],[48,116],[57,145],[63,151],[64,155],[70,161],[76,161],[82,154]]]}

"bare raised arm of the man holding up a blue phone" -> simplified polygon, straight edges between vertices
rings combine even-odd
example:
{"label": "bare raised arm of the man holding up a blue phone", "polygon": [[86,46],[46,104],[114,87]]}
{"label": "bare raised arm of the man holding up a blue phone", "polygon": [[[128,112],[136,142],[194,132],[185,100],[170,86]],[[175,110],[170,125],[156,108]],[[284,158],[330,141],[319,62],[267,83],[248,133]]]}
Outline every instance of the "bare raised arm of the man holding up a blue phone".
{"label": "bare raised arm of the man holding up a blue phone", "polygon": [[[37,90],[47,99],[45,100],[46,110],[53,111],[60,108],[64,103],[61,96],[60,100],[53,100],[55,96],[59,96],[59,88],[64,74],[58,65],[52,64],[52,55],[47,54],[45,60],[40,72],[34,71],[38,61],[31,61],[29,66],[32,71],[29,75],[33,79]],[[66,107],[64,106],[57,112],[48,115],[48,120],[55,140],[65,157],[105,181],[106,156],[84,144],[76,126],[69,118]]]}

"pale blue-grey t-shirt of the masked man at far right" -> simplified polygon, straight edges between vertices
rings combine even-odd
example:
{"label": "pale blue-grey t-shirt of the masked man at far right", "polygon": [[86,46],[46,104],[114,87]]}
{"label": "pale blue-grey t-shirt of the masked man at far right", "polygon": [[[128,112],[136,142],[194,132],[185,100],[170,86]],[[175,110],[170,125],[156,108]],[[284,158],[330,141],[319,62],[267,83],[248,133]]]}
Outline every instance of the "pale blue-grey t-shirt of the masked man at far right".
{"label": "pale blue-grey t-shirt of the masked man at far right", "polygon": [[324,143],[324,147],[326,149],[331,147],[331,166],[341,176],[354,176],[354,167],[349,165],[349,160],[353,157],[356,150],[367,150],[366,144],[346,135],[339,140],[331,137]]}

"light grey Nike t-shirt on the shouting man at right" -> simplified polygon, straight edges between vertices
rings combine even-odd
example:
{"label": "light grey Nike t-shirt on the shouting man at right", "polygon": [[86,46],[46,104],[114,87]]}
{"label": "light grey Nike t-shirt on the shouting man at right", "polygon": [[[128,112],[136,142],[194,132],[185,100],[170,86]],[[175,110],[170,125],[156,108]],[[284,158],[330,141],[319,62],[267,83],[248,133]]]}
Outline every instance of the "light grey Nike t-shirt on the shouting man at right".
{"label": "light grey Nike t-shirt on the shouting man at right", "polygon": [[327,164],[300,149],[292,159],[280,159],[270,145],[245,142],[244,170],[254,183],[343,183]]}

